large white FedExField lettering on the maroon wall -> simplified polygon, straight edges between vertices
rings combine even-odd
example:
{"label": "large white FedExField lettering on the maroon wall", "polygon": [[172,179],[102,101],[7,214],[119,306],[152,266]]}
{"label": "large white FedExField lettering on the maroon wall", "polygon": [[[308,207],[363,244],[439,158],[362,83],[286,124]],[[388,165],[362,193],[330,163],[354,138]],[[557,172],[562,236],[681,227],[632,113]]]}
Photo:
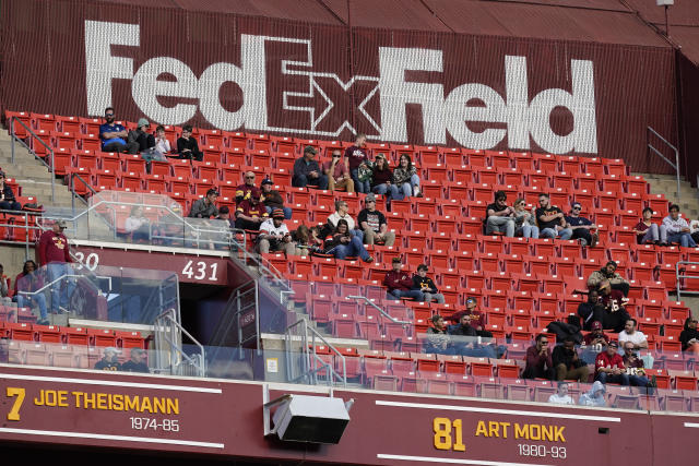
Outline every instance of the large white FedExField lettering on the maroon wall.
{"label": "large white FedExField lettering on the maroon wall", "polygon": [[[494,148],[506,142],[511,150],[530,150],[533,142],[555,154],[597,153],[594,69],[590,60],[570,59],[564,73],[569,76],[568,88],[545,88],[530,95],[529,73],[542,71],[528,69],[526,57],[503,55],[503,93],[484,83],[463,83],[447,92],[443,83],[406,77],[408,73],[445,73],[445,56],[438,49],[377,46],[378,76],[354,75],[343,81],[336,70],[318,69],[310,39],[241,34],[239,64],[213,62],[198,75],[191,63],[178,58],[155,56],[137,68],[133,58],[116,53],[112,46],[127,50],[142,46],[139,24],[85,21],[84,32],[86,104],[87,113],[93,116],[115,105],[115,81],[128,80],[133,103],[146,117],[163,124],[182,124],[200,111],[212,127],[227,131],[245,128],[334,138],[347,129],[381,141],[406,143],[407,107],[417,106],[425,144],[446,144],[449,135],[470,148]],[[279,63],[270,60],[268,48],[273,43],[293,45],[294,56]],[[270,70],[275,63],[279,65]],[[269,76],[275,70],[282,79],[274,85],[292,83],[281,89],[279,103],[270,93]],[[236,109],[222,103],[227,83],[235,84],[242,95]],[[356,93],[354,99],[346,97],[350,92]],[[279,93],[275,89],[274,95]],[[166,106],[161,97],[177,103]],[[368,106],[372,99],[378,105]],[[272,121],[270,115],[275,108],[306,117],[279,124],[279,119]],[[566,134],[552,128],[552,112],[557,108],[572,116],[572,128]],[[337,110],[344,113],[339,117]],[[362,128],[353,128],[353,110],[362,117]],[[487,128],[473,129],[471,123],[486,123]]]}

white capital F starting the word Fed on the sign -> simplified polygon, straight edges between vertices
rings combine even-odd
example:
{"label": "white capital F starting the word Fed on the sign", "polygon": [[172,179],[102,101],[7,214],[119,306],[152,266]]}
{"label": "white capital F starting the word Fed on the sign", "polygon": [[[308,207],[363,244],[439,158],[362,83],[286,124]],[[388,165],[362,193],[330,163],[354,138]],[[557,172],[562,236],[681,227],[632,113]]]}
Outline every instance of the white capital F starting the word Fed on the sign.
{"label": "white capital F starting the word Fed on the sign", "polygon": [[87,113],[103,115],[111,106],[111,80],[130,80],[133,60],[112,57],[111,45],[139,45],[138,24],[85,21],[85,80]]}

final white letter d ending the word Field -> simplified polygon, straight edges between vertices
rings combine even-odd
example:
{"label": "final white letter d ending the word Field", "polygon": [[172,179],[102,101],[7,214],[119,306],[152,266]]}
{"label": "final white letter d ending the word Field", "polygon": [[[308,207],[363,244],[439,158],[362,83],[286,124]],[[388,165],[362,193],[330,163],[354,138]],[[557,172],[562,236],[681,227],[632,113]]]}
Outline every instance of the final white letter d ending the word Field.
{"label": "final white letter d ending the word Field", "polygon": [[[594,108],[594,73],[592,62],[571,60],[572,93],[564,89],[546,89],[532,99],[529,108],[532,139],[544,151],[566,154],[571,151],[595,154],[597,152],[597,123]],[[570,134],[560,136],[549,124],[555,107],[566,107],[573,117]]]}

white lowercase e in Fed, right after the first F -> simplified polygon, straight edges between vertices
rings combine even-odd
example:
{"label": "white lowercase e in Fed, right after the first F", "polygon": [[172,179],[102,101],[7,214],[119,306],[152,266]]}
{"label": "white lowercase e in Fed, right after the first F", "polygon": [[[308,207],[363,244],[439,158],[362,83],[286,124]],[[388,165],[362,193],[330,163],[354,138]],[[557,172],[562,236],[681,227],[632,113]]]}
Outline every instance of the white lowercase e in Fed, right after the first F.
{"label": "white lowercase e in Fed, right after the first F", "polygon": [[[158,81],[157,77],[168,73],[175,81]],[[181,124],[194,116],[197,106],[177,104],[163,107],[157,96],[197,98],[199,97],[197,76],[181,61],[170,57],[152,58],[135,72],[131,83],[131,95],[135,105],[152,120],[162,124]]]}

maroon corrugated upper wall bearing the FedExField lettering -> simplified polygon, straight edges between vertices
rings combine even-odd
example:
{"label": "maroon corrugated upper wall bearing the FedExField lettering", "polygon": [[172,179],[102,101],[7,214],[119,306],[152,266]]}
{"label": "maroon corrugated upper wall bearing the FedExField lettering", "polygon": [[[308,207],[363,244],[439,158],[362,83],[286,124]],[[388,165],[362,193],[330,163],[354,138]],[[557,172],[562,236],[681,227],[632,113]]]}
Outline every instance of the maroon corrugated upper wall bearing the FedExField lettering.
{"label": "maroon corrugated upper wall bearing the FedExField lettering", "polygon": [[5,109],[623,157],[677,141],[670,46],[301,23],[97,1],[2,2]]}

